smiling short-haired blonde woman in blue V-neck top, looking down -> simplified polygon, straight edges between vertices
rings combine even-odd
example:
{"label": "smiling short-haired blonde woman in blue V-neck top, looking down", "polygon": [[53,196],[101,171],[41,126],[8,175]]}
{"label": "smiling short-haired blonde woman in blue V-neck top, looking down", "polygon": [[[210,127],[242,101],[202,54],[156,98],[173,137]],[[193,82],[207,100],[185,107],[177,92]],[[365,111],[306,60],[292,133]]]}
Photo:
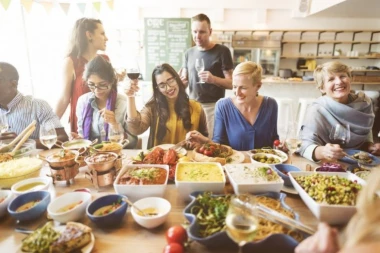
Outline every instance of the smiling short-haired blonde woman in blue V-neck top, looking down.
{"label": "smiling short-haired blonde woman in blue V-neck top, looking down", "polygon": [[[232,76],[235,96],[220,99],[215,106],[212,141],[235,150],[273,146],[278,139],[277,103],[259,94],[262,68],[254,62],[236,66]],[[190,132],[193,144],[208,142],[207,138]]]}

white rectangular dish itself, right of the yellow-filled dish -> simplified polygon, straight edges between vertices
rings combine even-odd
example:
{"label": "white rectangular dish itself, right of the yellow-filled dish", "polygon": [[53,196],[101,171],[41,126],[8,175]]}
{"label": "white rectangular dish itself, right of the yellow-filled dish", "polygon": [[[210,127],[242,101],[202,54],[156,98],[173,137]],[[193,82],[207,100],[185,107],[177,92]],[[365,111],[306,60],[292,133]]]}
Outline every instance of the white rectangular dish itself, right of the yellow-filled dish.
{"label": "white rectangular dish itself, right of the yellow-filled dish", "polygon": [[[225,171],[228,175],[228,178],[230,179],[230,183],[232,187],[234,188],[235,194],[241,194],[241,193],[263,193],[263,192],[280,192],[282,189],[282,186],[284,185],[284,180],[279,176],[279,179],[274,182],[260,182],[252,183],[248,182],[239,182],[237,176],[234,174],[234,170],[237,169],[238,171],[243,171],[244,167],[248,167],[250,169],[259,168],[259,167],[266,167],[270,170],[272,170],[273,173],[277,172],[272,169],[268,165],[261,165],[261,164],[253,164],[253,163],[244,163],[244,164],[227,164],[224,166]],[[251,180],[249,180],[251,181]]]}

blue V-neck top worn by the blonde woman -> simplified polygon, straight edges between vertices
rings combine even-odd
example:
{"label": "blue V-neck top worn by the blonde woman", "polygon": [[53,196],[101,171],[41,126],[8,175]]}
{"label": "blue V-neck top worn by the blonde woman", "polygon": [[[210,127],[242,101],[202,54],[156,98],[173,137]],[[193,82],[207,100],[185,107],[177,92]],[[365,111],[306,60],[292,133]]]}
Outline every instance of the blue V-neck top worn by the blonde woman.
{"label": "blue V-neck top worn by the blonde woman", "polygon": [[235,150],[272,147],[277,134],[277,103],[264,97],[251,125],[233,104],[231,98],[223,98],[215,106],[213,141],[230,146]]}

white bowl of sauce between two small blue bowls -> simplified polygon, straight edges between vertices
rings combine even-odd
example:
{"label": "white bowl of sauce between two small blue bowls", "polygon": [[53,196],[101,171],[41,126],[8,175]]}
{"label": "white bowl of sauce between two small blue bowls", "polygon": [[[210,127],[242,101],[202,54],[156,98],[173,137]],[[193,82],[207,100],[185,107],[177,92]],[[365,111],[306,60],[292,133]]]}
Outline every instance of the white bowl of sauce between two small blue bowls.
{"label": "white bowl of sauce between two small blue bowls", "polygon": [[[69,221],[77,221],[86,214],[86,208],[91,202],[91,194],[87,192],[69,192],[54,199],[48,206],[49,216],[60,222],[67,223]],[[71,204],[78,203],[74,208],[59,212],[61,208]]]}

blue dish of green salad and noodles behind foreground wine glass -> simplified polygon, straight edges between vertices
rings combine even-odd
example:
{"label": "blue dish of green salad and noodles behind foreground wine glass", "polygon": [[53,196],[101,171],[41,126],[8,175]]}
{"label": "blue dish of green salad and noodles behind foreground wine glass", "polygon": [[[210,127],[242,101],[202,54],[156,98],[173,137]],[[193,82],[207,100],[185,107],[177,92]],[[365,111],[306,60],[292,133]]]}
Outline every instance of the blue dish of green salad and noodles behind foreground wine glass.
{"label": "blue dish of green salad and noodles behind foreground wine glass", "polygon": [[[188,229],[190,239],[209,248],[235,246],[225,231],[225,218],[231,195],[193,192],[190,196],[192,201],[183,211],[190,222]],[[258,195],[256,200],[264,206],[298,220],[298,214],[285,204],[285,197],[284,193],[268,192]],[[213,210],[220,210],[220,213],[216,215]],[[247,243],[243,247],[243,252],[294,252],[298,242],[306,236],[262,218],[259,218],[257,231],[253,242]]]}

